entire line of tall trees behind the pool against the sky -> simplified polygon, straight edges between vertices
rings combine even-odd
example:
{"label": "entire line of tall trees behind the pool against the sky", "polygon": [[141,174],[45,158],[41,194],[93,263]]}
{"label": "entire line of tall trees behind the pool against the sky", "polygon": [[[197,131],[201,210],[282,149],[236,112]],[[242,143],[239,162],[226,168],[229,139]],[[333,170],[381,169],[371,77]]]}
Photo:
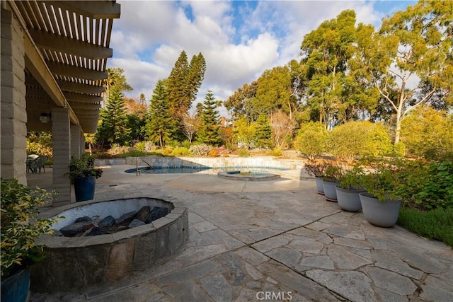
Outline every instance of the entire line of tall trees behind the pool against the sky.
{"label": "entire line of tall trees behind the pool against the sky", "polygon": [[[368,120],[384,124],[398,145],[408,136],[403,120],[412,125],[427,108],[444,124],[452,120],[452,21],[452,1],[419,1],[385,17],[378,29],[356,24],[355,11],[342,11],[304,36],[299,61],[264,71],[224,102],[209,91],[193,115],[206,69],[201,53],[189,63],[181,52],[168,78],[156,83],[149,108],[144,96],[125,98],[122,92],[132,88],[121,69],[109,69],[109,100],[95,138],[101,144],[197,141],[282,148],[292,146],[309,122],[331,130]],[[232,117],[231,128],[219,127],[221,104]],[[433,121],[433,114],[425,115]]]}

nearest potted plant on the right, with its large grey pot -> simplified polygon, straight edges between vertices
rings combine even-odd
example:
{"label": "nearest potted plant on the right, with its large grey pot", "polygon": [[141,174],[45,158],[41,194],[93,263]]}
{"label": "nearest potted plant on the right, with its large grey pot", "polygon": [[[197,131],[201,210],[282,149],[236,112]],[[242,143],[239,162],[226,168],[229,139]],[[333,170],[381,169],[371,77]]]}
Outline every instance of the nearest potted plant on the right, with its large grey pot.
{"label": "nearest potted plant on the right, with its large grey pot", "polygon": [[398,220],[401,197],[399,158],[372,158],[365,161],[369,173],[363,175],[360,185],[367,190],[359,194],[365,219],[374,226],[391,227]]}

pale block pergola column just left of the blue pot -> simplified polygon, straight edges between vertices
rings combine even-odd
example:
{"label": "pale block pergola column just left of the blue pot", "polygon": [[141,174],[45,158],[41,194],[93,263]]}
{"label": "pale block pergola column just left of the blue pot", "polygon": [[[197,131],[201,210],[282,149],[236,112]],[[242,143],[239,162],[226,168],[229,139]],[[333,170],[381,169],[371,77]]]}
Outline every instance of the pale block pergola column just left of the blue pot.
{"label": "pale block pergola column just left of the blue pot", "polygon": [[52,144],[52,185],[59,192],[52,207],[59,207],[71,203],[71,182],[67,175],[71,160],[71,126],[67,108],[52,108]]}

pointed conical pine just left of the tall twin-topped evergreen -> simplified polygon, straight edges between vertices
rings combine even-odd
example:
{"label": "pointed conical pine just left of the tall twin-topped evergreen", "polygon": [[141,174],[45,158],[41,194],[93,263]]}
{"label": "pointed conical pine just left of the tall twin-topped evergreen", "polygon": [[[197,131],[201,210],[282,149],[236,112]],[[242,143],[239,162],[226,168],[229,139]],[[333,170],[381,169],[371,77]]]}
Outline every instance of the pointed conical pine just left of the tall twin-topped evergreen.
{"label": "pointed conical pine just left of the tall twin-topped evergreen", "polygon": [[151,141],[155,141],[163,147],[171,139],[175,132],[175,120],[171,115],[168,104],[166,86],[163,80],[159,80],[154,88],[151,104],[149,106],[149,120],[146,132]]}

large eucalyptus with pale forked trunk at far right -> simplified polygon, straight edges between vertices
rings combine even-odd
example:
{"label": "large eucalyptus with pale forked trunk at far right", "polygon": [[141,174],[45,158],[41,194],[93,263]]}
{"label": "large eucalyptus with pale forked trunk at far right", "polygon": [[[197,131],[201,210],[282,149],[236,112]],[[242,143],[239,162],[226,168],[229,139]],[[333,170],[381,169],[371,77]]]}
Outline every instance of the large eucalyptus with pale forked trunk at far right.
{"label": "large eucalyptus with pale forked trunk at far right", "polygon": [[439,99],[452,103],[452,21],[453,1],[420,1],[384,18],[379,32],[359,26],[357,55],[395,115],[395,143],[408,112]]}

